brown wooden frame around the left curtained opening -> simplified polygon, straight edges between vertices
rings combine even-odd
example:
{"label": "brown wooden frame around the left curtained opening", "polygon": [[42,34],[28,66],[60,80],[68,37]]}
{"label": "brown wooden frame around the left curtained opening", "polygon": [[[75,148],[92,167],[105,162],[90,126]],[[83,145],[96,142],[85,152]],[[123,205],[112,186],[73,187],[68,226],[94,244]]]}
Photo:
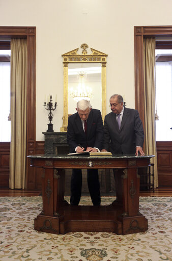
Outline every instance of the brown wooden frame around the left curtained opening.
{"label": "brown wooden frame around the left curtained opening", "polygon": [[[0,27],[1,38],[27,39],[27,105],[26,105],[26,155],[36,153],[36,27]],[[26,184],[34,189],[35,168],[26,158]]]}

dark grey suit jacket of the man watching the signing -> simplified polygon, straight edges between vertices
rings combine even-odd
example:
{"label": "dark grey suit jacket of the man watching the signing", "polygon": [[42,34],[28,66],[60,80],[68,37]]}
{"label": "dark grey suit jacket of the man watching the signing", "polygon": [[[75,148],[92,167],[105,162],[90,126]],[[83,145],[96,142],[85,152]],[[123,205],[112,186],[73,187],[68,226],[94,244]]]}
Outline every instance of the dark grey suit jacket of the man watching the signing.
{"label": "dark grey suit jacket of the man watching the signing", "polygon": [[103,148],[112,153],[135,153],[135,147],[144,144],[144,129],[138,111],[124,108],[119,130],[116,114],[111,112],[104,119]]}

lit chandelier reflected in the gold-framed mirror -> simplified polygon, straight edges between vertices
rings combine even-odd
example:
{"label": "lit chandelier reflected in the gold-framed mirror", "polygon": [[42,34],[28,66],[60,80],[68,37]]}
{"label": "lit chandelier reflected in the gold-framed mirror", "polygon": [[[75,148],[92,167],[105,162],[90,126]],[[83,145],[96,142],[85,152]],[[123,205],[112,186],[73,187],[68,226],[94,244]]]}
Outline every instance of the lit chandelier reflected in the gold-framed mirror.
{"label": "lit chandelier reflected in the gold-framed mirror", "polygon": [[80,71],[77,73],[78,87],[76,89],[70,88],[70,95],[75,101],[82,99],[90,100],[92,98],[92,88],[86,86],[85,82],[87,78],[87,73],[85,71]]}

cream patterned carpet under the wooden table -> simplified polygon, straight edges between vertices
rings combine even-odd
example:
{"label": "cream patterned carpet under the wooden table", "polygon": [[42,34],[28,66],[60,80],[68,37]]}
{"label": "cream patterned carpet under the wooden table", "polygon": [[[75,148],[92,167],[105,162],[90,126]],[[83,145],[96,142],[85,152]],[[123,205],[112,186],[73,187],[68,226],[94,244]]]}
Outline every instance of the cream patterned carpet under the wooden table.
{"label": "cream patterned carpet under the wooden table", "polygon": [[[69,197],[65,198],[69,201]],[[102,197],[102,204],[114,198]],[[149,230],[130,235],[34,230],[42,197],[0,197],[0,261],[162,261],[172,260],[172,197],[141,197],[139,210]],[[91,204],[82,197],[81,204]]]}

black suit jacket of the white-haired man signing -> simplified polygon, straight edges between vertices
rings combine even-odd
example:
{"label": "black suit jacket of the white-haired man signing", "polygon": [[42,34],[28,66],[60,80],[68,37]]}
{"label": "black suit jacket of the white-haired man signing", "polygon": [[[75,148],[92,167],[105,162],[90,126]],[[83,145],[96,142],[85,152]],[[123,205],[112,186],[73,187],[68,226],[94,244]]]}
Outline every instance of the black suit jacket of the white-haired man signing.
{"label": "black suit jacket of the white-haired man signing", "polygon": [[87,137],[83,131],[82,122],[75,113],[69,116],[67,142],[71,152],[80,144],[85,149],[87,147],[96,147],[102,149],[103,142],[103,121],[99,110],[92,109],[87,120]]}

